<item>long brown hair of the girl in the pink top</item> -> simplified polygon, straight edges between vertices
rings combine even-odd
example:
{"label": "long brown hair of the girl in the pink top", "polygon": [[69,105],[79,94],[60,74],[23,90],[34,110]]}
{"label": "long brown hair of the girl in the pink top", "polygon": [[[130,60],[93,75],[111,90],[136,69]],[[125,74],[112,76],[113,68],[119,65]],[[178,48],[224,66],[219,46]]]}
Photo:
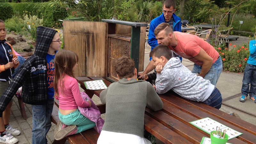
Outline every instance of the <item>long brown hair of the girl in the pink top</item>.
{"label": "long brown hair of the girl in the pink top", "polygon": [[[59,90],[57,85],[63,87],[63,75],[66,74],[68,76],[74,77],[73,67],[78,62],[78,55],[75,52],[68,50],[60,50],[56,53],[54,58],[54,66],[55,66],[55,76],[53,80],[53,88],[55,91],[55,97],[59,97]],[[62,89],[61,89],[61,92]]]}

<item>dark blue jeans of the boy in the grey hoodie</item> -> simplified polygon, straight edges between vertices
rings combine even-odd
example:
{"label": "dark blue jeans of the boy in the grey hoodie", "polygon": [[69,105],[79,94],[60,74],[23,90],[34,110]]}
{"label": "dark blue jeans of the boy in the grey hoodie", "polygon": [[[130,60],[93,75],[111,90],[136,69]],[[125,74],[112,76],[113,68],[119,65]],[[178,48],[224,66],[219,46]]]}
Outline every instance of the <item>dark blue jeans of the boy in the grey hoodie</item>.
{"label": "dark blue jeans of the boy in the grey hoodie", "polygon": [[212,94],[209,96],[209,98],[203,103],[213,107],[220,109],[221,104],[222,104],[222,97],[220,91],[215,87],[214,90],[212,91]]}

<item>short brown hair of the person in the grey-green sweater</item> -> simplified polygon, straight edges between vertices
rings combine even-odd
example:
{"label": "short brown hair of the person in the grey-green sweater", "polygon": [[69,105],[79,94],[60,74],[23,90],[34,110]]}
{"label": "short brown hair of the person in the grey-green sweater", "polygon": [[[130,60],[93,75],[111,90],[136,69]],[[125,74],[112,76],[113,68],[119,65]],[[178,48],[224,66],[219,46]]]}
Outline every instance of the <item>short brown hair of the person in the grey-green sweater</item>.
{"label": "short brown hair of the person in the grey-green sweater", "polygon": [[127,56],[122,56],[115,62],[115,71],[119,78],[131,78],[134,76],[135,62]]}

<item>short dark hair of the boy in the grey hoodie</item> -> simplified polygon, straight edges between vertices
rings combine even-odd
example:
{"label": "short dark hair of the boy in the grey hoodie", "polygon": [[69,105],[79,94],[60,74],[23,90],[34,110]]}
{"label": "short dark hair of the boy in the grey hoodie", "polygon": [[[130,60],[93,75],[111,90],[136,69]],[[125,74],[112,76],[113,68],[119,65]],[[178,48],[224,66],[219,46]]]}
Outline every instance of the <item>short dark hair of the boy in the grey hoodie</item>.
{"label": "short dark hair of the boy in the grey hoodie", "polygon": [[167,60],[170,60],[172,58],[172,51],[168,48],[168,46],[159,44],[149,53],[149,56],[154,56],[159,59],[161,56],[164,56]]}

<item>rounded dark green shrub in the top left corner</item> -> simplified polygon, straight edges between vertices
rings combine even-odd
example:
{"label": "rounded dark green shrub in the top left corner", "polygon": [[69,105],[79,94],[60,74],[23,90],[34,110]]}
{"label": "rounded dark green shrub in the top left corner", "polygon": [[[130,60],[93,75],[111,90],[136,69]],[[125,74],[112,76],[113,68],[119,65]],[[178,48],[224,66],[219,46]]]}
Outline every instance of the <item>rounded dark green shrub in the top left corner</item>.
{"label": "rounded dark green shrub in the top left corner", "polygon": [[12,18],[13,10],[12,6],[8,3],[1,3],[0,4],[0,19],[7,20]]}

